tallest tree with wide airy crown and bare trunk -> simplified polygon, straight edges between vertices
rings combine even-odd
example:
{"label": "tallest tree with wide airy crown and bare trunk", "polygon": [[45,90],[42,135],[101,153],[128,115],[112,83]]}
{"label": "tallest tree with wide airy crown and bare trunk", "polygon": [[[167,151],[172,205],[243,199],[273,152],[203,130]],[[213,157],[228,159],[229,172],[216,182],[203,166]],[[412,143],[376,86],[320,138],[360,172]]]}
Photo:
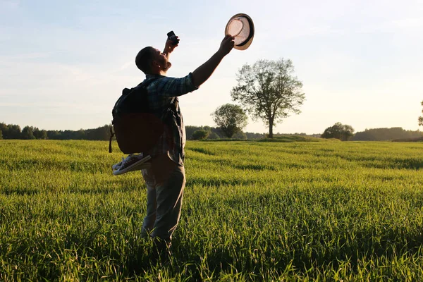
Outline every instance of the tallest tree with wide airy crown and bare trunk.
{"label": "tallest tree with wide airy crown and bare trunk", "polygon": [[302,82],[294,76],[293,62],[259,60],[254,65],[245,64],[237,73],[238,85],[233,87],[231,97],[240,102],[254,120],[261,119],[273,127],[290,113],[300,114],[304,102]]}

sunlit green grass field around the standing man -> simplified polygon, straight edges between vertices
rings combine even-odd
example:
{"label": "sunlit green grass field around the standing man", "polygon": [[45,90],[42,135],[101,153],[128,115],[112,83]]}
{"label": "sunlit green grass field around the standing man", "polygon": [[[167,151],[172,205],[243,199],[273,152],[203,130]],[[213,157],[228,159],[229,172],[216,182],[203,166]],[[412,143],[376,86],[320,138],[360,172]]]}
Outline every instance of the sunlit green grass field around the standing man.
{"label": "sunlit green grass field around the standing man", "polygon": [[423,281],[423,143],[280,141],[188,142],[173,266],[149,267],[116,144],[1,140],[0,281]]}

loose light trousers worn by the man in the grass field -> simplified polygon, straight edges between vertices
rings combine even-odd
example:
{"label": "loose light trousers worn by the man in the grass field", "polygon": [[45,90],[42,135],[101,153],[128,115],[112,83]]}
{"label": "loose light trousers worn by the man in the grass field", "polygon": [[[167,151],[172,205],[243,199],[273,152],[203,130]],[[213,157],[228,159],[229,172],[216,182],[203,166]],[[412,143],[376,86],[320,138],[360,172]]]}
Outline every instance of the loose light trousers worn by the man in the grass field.
{"label": "loose light trousers worn by the man in the grass field", "polygon": [[185,168],[164,155],[152,159],[152,167],[143,169],[142,177],[147,184],[147,215],[141,233],[170,242],[180,218]]}

